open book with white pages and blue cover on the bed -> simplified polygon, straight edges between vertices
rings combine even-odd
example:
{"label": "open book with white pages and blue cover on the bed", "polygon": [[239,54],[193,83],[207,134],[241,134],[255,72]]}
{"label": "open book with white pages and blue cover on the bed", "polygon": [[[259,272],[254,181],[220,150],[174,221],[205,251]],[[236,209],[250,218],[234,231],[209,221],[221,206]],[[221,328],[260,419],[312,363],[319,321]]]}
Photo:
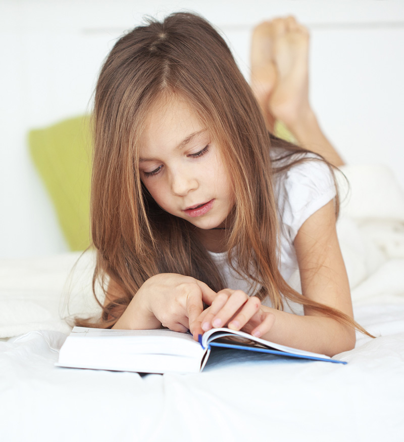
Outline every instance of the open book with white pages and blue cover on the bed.
{"label": "open book with white pages and blue cover on the bed", "polygon": [[272,353],[273,355],[346,362],[256,338],[242,331],[216,328],[199,336],[171,330],[106,330],[74,327],[59,353],[59,367],[191,373],[203,370],[212,347]]}

